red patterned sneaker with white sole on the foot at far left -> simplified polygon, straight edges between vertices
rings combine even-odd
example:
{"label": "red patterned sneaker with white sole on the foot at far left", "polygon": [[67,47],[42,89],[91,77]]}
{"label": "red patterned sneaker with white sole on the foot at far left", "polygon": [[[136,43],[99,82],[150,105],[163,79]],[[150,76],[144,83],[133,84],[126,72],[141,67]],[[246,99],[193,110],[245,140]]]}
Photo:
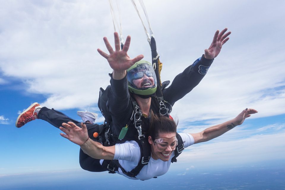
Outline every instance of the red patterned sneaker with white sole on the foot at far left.
{"label": "red patterned sneaker with white sole on the foot at far left", "polygon": [[16,120],[16,127],[20,128],[21,126],[25,125],[26,123],[37,119],[37,113],[35,110],[37,108],[42,108],[37,102],[33,103],[28,107],[25,111],[23,111]]}

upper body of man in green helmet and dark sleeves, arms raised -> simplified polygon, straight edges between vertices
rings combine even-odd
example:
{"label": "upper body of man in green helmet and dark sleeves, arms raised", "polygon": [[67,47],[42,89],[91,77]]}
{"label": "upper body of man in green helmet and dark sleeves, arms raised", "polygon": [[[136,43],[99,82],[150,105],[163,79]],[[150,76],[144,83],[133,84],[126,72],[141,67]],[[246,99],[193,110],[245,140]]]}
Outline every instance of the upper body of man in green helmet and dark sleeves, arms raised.
{"label": "upper body of man in green helmet and dark sleeves, arms raised", "polygon": [[[205,76],[213,59],[219,55],[222,45],[229,39],[227,28],[219,32],[216,31],[213,42],[205,50],[205,54],[197,59],[194,64],[187,67],[182,73],[177,75],[168,88],[163,88],[164,100],[171,106],[189,93]],[[150,109],[154,113],[159,113],[159,104],[153,94],[156,91],[157,81],[152,65],[148,61],[143,61],[143,55],[138,55],[131,59],[127,52],[129,50],[131,37],[126,38],[123,49],[121,50],[118,33],[114,33],[115,50],[113,50],[108,39],[103,38],[109,54],[101,49],[97,49],[100,55],[107,59],[113,73],[110,74],[111,88],[108,89],[107,110],[112,117],[110,131],[115,137],[119,137],[125,127],[124,139],[134,139],[138,137],[137,129],[129,120],[134,108],[130,95],[134,98],[141,110],[142,130],[148,130],[148,116]],[[129,124],[129,126],[126,126]]]}

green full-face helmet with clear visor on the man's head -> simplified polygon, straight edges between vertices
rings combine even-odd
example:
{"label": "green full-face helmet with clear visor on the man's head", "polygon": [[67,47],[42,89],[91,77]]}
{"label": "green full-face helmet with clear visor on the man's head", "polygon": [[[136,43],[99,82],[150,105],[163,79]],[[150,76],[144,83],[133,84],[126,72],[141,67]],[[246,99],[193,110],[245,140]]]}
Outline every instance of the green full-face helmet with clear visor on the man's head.
{"label": "green full-face helmet with clear visor on the man's head", "polygon": [[156,75],[150,62],[140,60],[127,69],[129,91],[138,95],[154,94]]}

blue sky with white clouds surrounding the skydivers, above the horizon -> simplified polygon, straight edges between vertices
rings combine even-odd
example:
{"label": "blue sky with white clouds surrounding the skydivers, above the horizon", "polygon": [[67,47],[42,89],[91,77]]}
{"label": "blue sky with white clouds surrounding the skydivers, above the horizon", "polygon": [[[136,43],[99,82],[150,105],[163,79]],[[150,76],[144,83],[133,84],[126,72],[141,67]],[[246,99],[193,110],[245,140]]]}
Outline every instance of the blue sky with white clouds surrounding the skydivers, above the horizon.
{"label": "blue sky with white clouds surrounding the skydivers, above the horizon", "polygon": [[[179,156],[185,171],[239,166],[285,158],[284,1],[145,2],[162,80],[170,80],[202,56],[217,29],[232,31],[202,82],[176,102],[172,116],[181,132],[234,118],[246,107],[259,113],[242,126]],[[156,9],[156,7],[160,7]],[[80,120],[77,110],[100,115],[99,88],[112,72],[96,49],[113,42],[108,1],[1,1],[0,175],[80,170],[79,147],[45,121],[17,129],[18,113],[33,102]],[[130,57],[150,48],[130,1],[121,4]],[[97,119],[103,122],[102,115]]]}

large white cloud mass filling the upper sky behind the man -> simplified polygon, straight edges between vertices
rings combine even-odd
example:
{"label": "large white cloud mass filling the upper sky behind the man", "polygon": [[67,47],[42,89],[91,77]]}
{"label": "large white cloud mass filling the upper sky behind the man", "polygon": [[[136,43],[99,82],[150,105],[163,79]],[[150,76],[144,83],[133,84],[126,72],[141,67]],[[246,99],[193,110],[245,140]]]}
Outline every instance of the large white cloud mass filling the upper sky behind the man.
{"label": "large white cloud mass filling the upper sky behind the man", "polygon": [[[200,57],[216,29],[232,31],[202,82],[175,103],[172,115],[181,124],[232,118],[246,107],[259,111],[253,118],[284,113],[283,1],[145,3],[164,63],[162,80],[172,81]],[[22,80],[26,86],[19,90],[47,96],[43,106],[96,106],[99,87],[109,84],[112,72],[96,51],[106,50],[104,36],[113,44],[108,2],[9,1],[1,7],[3,74]],[[149,60],[150,48],[132,4],[123,2],[121,12],[124,35],[132,36],[130,57],[144,54]]]}

